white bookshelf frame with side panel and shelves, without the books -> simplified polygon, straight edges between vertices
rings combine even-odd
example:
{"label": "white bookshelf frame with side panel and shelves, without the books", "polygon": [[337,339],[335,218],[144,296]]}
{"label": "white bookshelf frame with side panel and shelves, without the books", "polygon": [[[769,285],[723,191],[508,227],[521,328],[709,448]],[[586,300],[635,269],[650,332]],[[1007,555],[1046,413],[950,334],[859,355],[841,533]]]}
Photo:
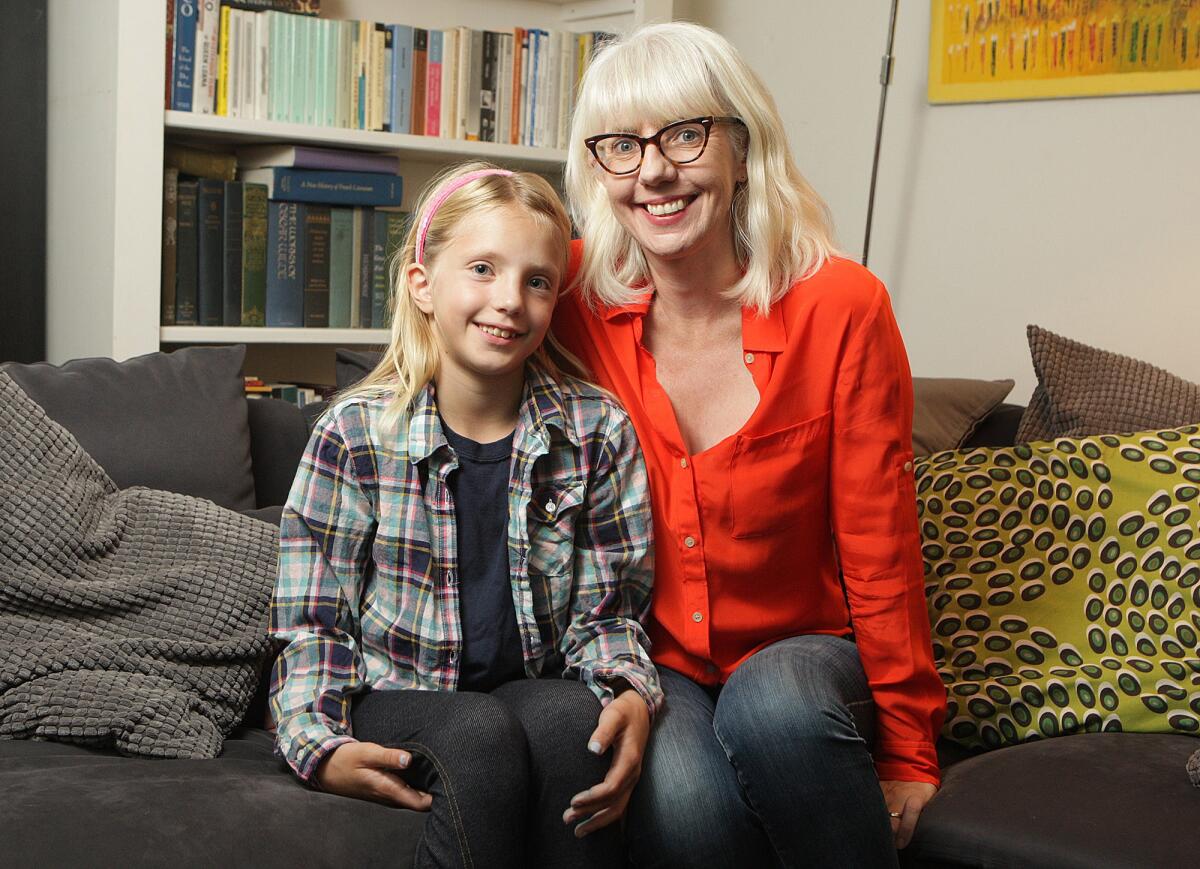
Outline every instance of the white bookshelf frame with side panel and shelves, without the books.
{"label": "white bookshelf frame with side panel and shelves, without the books", "polygon": [[[625,31],[668,19],[672,0],[323,0],[322,16],[422,28]],[[161,348],[246,343],[247,372],[332,370],[335,346],[382,329],[160,326],[163,142],[280,142],[396,154],[406,206],[440,166],[482,158],[550,175],[565,151],[164,112],[166,2],[50,0],[47,119],[47,358],[128,359]],[[311,348],[311,353],[308,350]],[[253,370],[253,371],[252,371]],[[301,379],[298,377],[298,379]],[[312,379],[304,377],[304,379]]]}

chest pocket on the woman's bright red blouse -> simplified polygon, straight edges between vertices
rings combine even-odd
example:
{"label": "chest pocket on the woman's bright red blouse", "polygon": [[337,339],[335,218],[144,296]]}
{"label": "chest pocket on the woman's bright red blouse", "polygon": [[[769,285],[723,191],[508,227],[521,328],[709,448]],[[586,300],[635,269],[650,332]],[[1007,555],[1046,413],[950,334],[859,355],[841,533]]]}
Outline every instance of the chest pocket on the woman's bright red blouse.
{"label": "chest pocket on the woman's bright red blouse", "polygon": [[733,537],[775,534],[829,511],[832,414],[769,434],[739,434],[730,462]]}

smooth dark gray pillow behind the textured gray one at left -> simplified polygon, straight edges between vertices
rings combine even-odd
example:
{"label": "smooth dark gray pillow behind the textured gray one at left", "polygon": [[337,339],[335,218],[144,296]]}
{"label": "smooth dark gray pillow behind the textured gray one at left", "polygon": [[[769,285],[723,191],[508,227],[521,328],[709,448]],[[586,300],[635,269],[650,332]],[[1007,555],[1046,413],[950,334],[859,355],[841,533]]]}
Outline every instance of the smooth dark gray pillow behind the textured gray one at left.
{"label": "smooth dark gray pillow behind the textured gray one at left", "polygon": [[234,347],[187,347],[116,362],[10,364],[4,371],[121,489],[148,486],[252,510],[254,477]]}

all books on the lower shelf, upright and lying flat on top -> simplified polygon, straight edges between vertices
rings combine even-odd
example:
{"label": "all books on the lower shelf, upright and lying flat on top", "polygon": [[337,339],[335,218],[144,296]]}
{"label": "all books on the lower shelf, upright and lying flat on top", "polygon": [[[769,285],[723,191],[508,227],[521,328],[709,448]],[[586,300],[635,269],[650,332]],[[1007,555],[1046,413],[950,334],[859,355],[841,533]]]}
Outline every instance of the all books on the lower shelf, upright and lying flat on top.
{"label": "all books on the lower shelf, upright and lying flat on top", "polygon": [[388,328],[397,157],[169,145],[166,161],[163,325]]}

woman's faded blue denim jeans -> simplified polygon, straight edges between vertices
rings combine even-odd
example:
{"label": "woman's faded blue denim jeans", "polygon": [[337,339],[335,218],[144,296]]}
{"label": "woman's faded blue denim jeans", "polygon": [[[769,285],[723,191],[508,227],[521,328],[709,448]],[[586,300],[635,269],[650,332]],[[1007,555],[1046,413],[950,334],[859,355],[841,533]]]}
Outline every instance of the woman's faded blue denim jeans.
{"label": "woman's faded blue denim jeans", "polygon": [[874,703],[853,641],[781,640],[722,688],[660,672],[666,708],[626,829],[640,869],[898,865],[854,724]]}

